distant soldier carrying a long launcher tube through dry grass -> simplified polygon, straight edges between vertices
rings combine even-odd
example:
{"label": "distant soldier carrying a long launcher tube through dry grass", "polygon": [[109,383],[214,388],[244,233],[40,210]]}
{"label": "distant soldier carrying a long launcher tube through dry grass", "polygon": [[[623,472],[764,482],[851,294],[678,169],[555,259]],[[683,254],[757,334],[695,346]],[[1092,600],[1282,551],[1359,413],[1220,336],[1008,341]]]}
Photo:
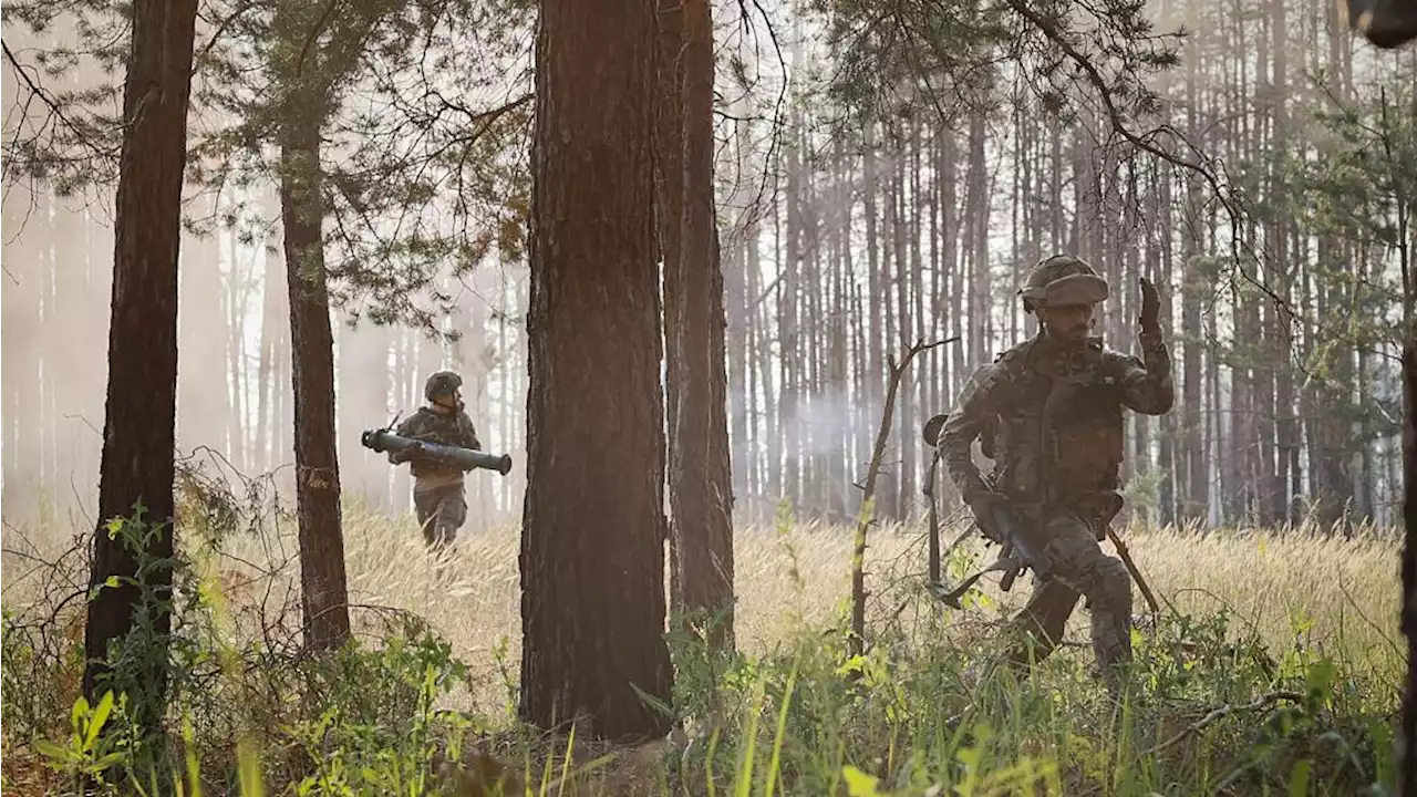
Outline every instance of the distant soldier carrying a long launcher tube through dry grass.
{"label": "distant soldier carrying a long launcher tube through dry grass", "polygon": [[[424,384],[428,404],[398,424],[395,434],[480,451],[478,430],[463,411],[461,389],[462,377],[456,373],[438,372],[429,376]],[[414,475],[414,511],[428,547],[441,552],[452,545],[458,537],[458,529],[468,519],[462,469],[421,458],[418,448],[391,451],[388,461],[395,465],[410,462]]]}

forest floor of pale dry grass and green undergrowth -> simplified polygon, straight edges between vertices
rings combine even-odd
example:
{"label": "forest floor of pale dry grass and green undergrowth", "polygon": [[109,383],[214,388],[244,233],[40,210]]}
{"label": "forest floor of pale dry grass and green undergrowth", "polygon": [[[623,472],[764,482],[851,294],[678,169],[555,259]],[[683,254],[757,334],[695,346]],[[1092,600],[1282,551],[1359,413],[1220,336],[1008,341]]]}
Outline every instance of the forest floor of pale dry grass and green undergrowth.
{"label": "forest floor of pale dry grass and green undergrowth", "polygon": [[[1027,597],[1027,576],[1009,594],[986,579],[962,611],[947,610],[922,589],[922,529],[879,529],[867,553],[874,644],[850,659],[850,530],[745,528],[735,543],[737,654],[672,640],[676,703],[696,719],[663,743],[626,752],[541,739],[514,722],[514,528],[465,529],[456,559],[439,570],[411,518],[350,508],[360,650],[312,662],[293,634],[293,530],[228,529],[208,547],[220,536],[214,525],[230,525],[215,518],[225,516],[188,511],[184,520],[193,579],[179,594],[187,644],[173,665],[184,718],[174,728],[186,728],[173,742],[183,750],[176,760],[184,777],[200,767],[207,794],[241,793],[239,763],[258,759],[268,793],[303,781],[300,793],[315,794],[428,784],[478,794],[466,774],[449,774],[458,760],[509,763],[537,794],[1393,788],[1406,665],[1400,542],[1376,533],[1125,530],[1168,607],[1159,621],[1145,618],[1134,590],[1134,698],[1118,709],[1091,671],[1081,604],[1063,650],[1029,681],[990,667],[1000,623]],[[942,545],[962,529],[947,528]],[[102,742],[84,747],[82,722],[79,732],[71,722],[78,601],[55,611],[84,583],[82,546],[62,556],[75,542],[0,529],[0,584],[10,584],[0,589],[0,729],[10,728],[0,730],[3,794],[41,793],[40,783],[62,791],[61,774],[102,754]],[[992,556],[969,539],[948,559],[948,580]],[[58,747],[37,745],[41,737]],[[242,759],[238,737],[261,754]],[[43,774],[44,762],[55,771]]]}

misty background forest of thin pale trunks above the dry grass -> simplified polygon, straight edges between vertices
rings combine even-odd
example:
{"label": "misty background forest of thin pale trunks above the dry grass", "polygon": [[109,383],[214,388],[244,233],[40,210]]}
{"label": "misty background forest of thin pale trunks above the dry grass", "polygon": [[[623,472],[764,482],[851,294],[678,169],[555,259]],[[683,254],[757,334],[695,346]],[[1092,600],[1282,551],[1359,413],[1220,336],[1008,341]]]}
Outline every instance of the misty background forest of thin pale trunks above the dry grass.
{"label": "misty background forest of thin pale trunks above the dry grass", "polygon": [[[1131,512],[1202,526],[1394,520],[1417,55],[1359,44],[1322,0],[1152,6],[1156,34],[1185,27],[1189,37],[1176,67],[1122,75],[1159,98],[1156,118],[1141,121],[1076,88],[1051,115],[1058,96],[1047,82],[1005,60],[972,84],[956,79],[948,105],[905,79],[866,85],[852,69],[886,62],[870,54],[888,50],[886,34],[837,35],[845,28],[813,9],[782,3],[716,9],[728,431],[743,519],[772,518],[782,499],[803,518],[853,516],[888,357],[958,338],[911,364],[877,488],[883,515],[922,513],[921,424],[951,408],[973,367],[1033,332],[1015,296],[1026,269],[1077,252],[1112,284],[1098,329],[1114,347],[1134,350],[1136,277],[1162,286],[1179,400],[1161,418],[1128,418]],[[468,530],[519,516],[526,488],[534,13],[490,20],[469,26],[459,52],[446,47],[442,68],[361,77],[326,147],[332,170],[368,166],[376,145],[407,147],[401,172],[349,170],[367,190],[410,172],[419,147],[418,163],[435,163],[427,153],[439,142],[469,125],[482,136],[469,147],[482,162],[442,165],[458,183],[419,194],[421,221],[405,218],[412,210],[385,214],[360,244],[350,230],[366,216],[340,204],[333,179],[337,231],[326,252],[339,305],[341,492],[411,509],[407,468],[364,450],[359,434],[414,411],[425,376],[451,367],[485,447],[514,461],[507,478],[472,474]],[[187,190],[181,244],[177,444],[183,457],[286,484],[279,201],[271,180],[237,163],[238,142],[224,132],[234,106],[224,98],[258,88],[222,68],[214,26],[198,20],[191,119],[205,172]],[[77,44],[62,27],[17,28],[6,35],[16,68],[0,69],[11,146],[45,177],[6,180],[0,516],[86,528],[102,445],[112,203],[84,183],[82,157],[23,149],[82,123],[55,99],[115,85],[102,58],[62,55]],[[1057,71],[1081,74],[1067,62]],[[417,193],[407,190],[398,201]],[[442,258],[436,275],[401,284],[398,264],[419,255],[405,233],[438,224],[436,235],[462,245],[425,258]],[[422,255],[436,235],[412,235]],[[371,262],[393,262],[394,277],[370,286]]]}

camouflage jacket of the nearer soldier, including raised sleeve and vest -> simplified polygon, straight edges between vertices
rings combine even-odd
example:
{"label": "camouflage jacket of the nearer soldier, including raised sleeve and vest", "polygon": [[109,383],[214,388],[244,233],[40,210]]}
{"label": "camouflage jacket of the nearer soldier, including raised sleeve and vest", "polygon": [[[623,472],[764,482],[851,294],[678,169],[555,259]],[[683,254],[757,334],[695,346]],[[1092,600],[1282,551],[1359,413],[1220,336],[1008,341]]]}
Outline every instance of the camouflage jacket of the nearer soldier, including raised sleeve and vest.
{"label": "camouflage jacket of the nearer soldier, including raised sleeve and vest", "polygon": [[[1144,335],[1142,353],[1145,362],[1098,338],[1067,353],[1040,336],[976,370],[939,433],[941,459],[959,495],[968,502],[995,489],[1078,509],[1104,501],[1115,512],[1122,408],[1159,416],[1175,401],[1166,346]],[[976,438],[995,461],[989,481],[971,457]]]}

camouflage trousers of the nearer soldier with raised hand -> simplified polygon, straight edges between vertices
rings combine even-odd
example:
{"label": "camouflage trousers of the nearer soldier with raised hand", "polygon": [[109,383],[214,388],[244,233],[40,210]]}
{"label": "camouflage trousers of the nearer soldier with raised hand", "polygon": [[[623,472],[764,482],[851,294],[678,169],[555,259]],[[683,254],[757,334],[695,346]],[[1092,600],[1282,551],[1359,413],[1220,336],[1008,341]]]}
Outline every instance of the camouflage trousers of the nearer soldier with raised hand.
{"label": "camouflage trousers of the nearer soldier with raised hand", "polygon": [[1093,652],[1108,688],[1119,685],[1114,665],[1132,657],[1132,580],[1127,566],[1102,553],[1093,525],[1073,513],[1043,518],[1043,554],[1051,577],[1036,581],[1029,604],[1010,621],[1022,637],[1009,655],[1016,665],[1043,661],[1063,638],[1063,628],[1081,597],[1093,620]]}

